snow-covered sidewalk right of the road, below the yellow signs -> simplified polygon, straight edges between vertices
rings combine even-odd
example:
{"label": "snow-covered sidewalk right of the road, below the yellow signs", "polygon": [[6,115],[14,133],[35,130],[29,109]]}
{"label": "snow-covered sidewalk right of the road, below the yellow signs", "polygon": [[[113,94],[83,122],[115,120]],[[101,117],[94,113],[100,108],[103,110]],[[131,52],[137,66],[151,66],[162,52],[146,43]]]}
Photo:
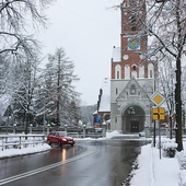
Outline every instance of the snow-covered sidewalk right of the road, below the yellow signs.
{"label": "snow-covered sidewalk right of the road, below the yellow signs", "polygon": [[186,186],[186,170],[179,170],[176,155],[164,158],[161,154],[160,159],[160,150],[147,144],[141,148],[137,163],[138,168],[131,173],[131,186]]}

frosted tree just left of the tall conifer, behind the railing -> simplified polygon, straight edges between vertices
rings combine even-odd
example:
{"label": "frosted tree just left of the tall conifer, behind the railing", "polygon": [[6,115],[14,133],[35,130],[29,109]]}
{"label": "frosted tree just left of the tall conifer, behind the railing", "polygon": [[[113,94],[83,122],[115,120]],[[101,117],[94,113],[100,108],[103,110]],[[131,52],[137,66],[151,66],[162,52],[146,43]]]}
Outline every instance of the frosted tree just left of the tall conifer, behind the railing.
{"label": "frosted tree just left of the tall conifer, behind the railing", "polygon": [[14,108],[15,120],[25,125],[25,132],[27,127],[33,123],[34,118],[34,98],[36,94],[36,70],[37,59],[27,60],[21,66],[15,66],[12,71],[13,80],[9,86],[9,93],[12,95],[12,104]]}

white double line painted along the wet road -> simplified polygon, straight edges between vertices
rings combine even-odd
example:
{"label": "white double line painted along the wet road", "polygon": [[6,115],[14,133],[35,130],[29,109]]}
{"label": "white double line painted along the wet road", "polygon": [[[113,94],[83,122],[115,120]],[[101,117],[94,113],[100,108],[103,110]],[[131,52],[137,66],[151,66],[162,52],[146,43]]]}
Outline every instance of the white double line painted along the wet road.
{"label": "white double line painted along the wet road", "polygon": [[28,176],[32,176],[32,175],[35,175],[35,174],[38,174],[38,173],[42,173],[42,172],[58,167],[58,166],[61,166],[63,164],[73,162],[73,161],[82,159],[82,158],[85,158],[85,156],[94,154],[96,152],[97,152],[97,150],[94,150],[94,151],[91,151],[91,152],[84,152],[84,153],[82,153],[80,155],[77,155],[77,156],[73,156],[71,159],[68,159],[65,162],[57,162],[57,163],[54,163],[54,164],[50,164],[50,165],[47,165],[47,166],[43,166],[43,167],[33,170],[33,171],[28,171],[28,172],[25,172],[25,173],[22,173],[22,174],[18,174],[15,176],[11,176],[11,177],[0,179],[0,185],[8,184],[8,183],[11,183],[11,182],[24,178],[24,177],[28,177]]}

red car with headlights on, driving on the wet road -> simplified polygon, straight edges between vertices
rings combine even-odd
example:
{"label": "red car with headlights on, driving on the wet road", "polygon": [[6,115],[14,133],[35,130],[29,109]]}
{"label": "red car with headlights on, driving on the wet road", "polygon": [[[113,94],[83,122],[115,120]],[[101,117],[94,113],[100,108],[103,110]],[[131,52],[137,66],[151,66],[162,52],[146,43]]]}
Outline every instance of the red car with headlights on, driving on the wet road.
{"label": "red car with headlights on, driving on the wet road", "polygon": [[59,147],[62,147],[65,144],[70,144],[71,147],[73,147],[74,144],[73,138],[68,137],[66,131],[51,131],[47,136],[47,142],[48,144],[58,143]]}

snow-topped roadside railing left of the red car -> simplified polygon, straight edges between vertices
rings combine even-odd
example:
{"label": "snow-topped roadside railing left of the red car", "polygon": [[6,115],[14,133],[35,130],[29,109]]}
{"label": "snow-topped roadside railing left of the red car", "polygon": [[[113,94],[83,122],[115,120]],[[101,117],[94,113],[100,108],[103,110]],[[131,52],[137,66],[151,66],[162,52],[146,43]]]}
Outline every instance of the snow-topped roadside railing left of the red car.
{"label": "snow-topped roadside railing left of the red car", "polygon": [[0,135],[0,147],[4,149],[15,148],[21,149],[32,144],[33,147],[38,143],[45,142],[45,135]]}

